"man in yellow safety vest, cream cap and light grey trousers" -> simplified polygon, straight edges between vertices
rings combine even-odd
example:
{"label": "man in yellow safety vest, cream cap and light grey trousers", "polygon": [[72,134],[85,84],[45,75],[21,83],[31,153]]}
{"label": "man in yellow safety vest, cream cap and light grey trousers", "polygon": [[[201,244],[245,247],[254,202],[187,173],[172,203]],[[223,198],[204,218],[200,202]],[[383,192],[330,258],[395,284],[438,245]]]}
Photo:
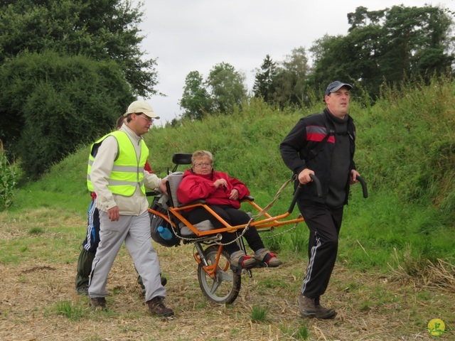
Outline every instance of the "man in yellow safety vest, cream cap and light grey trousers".
{"label": "man in yellow safety vest, cream cap and light grey trousers", "polygon": [[92,145],[87,187],[97,193],[100,244],[92,263],[88,293],[93,309],[105,309],[107,276],[123,242],[145,286],[145,301],[152,315],[171,316],[166,288],[161,284],[159,259],[151,244],[145,188],[166,192],[166,180],[144,170],[149,156],[142,135],[159,119],[149,103],[135,101],[124,114],[127,124]]}

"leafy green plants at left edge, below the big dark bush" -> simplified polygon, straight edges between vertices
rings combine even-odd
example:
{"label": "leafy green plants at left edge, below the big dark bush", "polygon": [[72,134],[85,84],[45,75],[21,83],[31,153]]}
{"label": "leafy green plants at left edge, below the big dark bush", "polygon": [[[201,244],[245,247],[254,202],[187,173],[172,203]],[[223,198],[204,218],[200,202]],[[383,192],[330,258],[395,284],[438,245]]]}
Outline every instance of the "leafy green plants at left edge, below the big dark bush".
{"label": "leafy green plants at left edge, below the big dark bush", "polygon": [[13,203],[16,184],[17,173],[9,163],[0,140],[0,210],[8,208]]}

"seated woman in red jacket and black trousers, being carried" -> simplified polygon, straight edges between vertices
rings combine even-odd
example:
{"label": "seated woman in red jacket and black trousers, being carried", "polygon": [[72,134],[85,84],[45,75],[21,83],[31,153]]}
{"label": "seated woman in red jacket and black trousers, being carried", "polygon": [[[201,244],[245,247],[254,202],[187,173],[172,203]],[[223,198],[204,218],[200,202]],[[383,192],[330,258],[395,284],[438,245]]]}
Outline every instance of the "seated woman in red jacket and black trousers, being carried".
{"label": "seated woman in red jacket and black trousers, being carried", "polygon": [[[231,226],[247,224],[250,216],[239,210],[242,197],[250,195],[250,190],[240,180],[230,178],[227,173],[214,171],[213,156],[210,151],[196,151],[191,158],[192,166],[183,173],[183,179],[177,189],[178,201],[187,204],[195,200],[205,199],[206,204]],[[186,219],[192,224],[203,220],[210,220],[215,229],[224,227],[223,223],[205,210],[196,207],[184,212]],[[241,231],[241,230],[240,230]],[[267,266],[274,267],[282,264],[277,256],[264,247],[261,237],[255,227],[250,227],[244,237],[248,245],[255,251],[254,259],[247,256],[235,240],[235,233],[223,232],[223,244],[230,253],[231,264],[248,268],[254,266],[256,261],[262,261]]]}

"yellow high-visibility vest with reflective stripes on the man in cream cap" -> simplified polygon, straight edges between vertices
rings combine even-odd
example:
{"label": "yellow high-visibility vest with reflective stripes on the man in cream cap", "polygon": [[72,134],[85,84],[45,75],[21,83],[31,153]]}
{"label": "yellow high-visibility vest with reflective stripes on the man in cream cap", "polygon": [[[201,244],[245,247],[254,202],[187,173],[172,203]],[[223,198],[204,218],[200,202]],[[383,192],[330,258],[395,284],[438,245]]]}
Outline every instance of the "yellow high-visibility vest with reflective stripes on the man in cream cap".
{"label": "yellow high-visibility vest with reflective stripes on the man in cream cap", "polygon": [[149,156],[149,148],[147,148],[144,140],[141,139],[141,154],[138,162],[133,143],[124,131],[109,133],[92,144],[87,167],[88,190],[90,192],[94,191],[92,181],[90,180],[90,171],[92,170],[92,164],[95,161],[98,148],[107,136],[114,136],[119,146],[117,158],[114,161],[112,172],[108,179],[107,188],[114,194],[131,197],[134,194],[134,190],[136,190],[136,186],[139,184],[142,194],[145,195],[144,165]]}

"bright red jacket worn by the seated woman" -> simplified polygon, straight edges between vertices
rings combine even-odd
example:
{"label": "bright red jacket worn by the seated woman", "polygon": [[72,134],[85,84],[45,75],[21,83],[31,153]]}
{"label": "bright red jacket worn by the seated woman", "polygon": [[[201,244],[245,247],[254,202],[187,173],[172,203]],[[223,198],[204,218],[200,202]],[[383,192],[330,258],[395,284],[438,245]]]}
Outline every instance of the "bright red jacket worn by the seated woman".
{"label": "bright red jacket worn by the seated woman", "polygon": [[[225,179],[228,183],[227,187],[213,185],[215,180]],[[233,189],[239,191],[237,200],[230,200],[230,193]],[[191,169],[187,169],[183,173],[183,179],[177,188],[177,199],[182,204],[187,204],[194,200],[205,199],[208,205],[230,205],[235,208],[240,208],[240,199],[250,195],[250,190],[242,181],[235,178],[230,178],[227,173],[215,172],[208,175],[193,173]]]}

